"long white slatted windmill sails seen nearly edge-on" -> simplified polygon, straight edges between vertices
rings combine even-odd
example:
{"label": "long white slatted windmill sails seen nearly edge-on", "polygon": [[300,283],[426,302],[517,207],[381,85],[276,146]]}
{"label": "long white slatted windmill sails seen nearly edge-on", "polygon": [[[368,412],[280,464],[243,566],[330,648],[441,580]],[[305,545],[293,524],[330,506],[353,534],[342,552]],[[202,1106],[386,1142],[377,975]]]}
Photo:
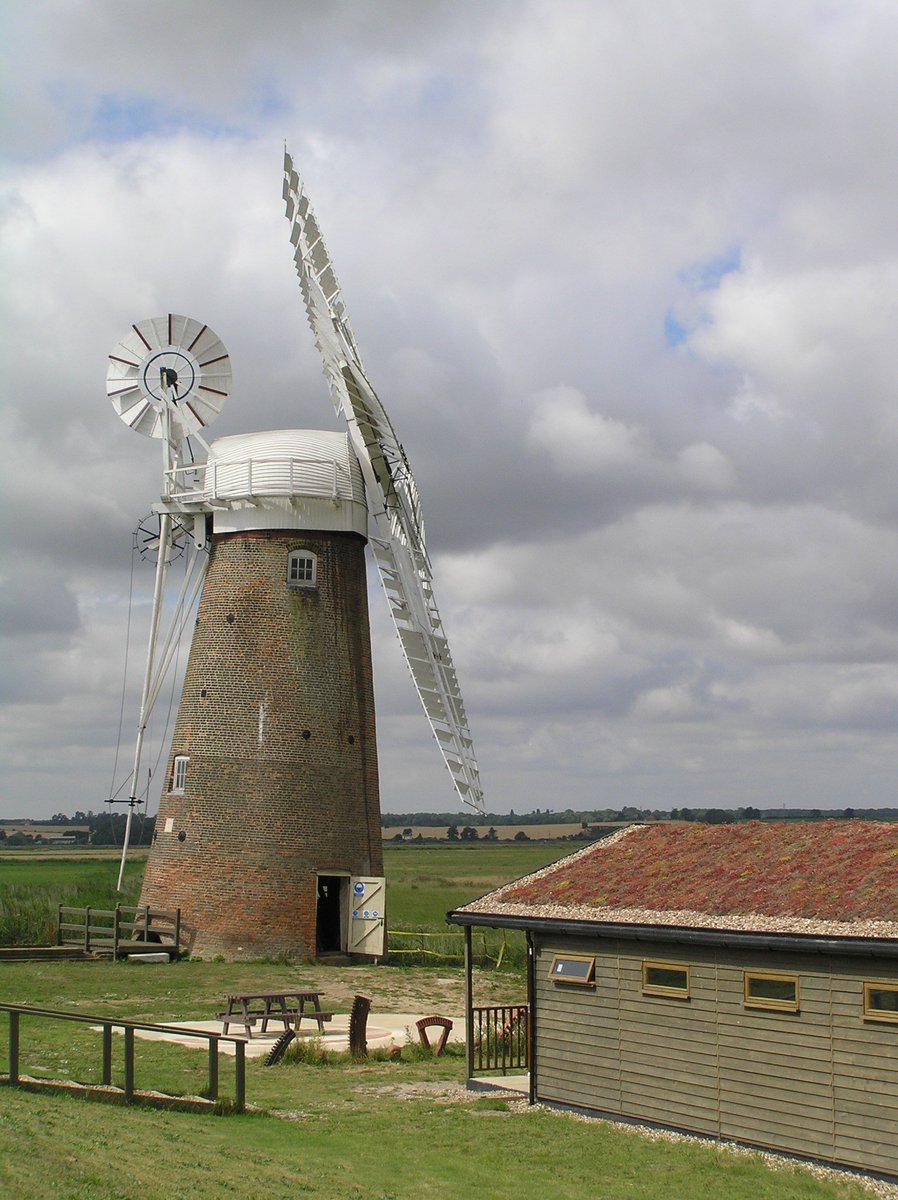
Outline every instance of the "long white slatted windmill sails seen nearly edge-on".
{"label": "long white slatted windmill sails seen nearly edge-on", "polygon": [[303,299],[334,407],[346,419],[378,536],[371,539],[412,678],[461,799],[483,811],[480,775],[436,600],[418,488],[387,410],[369,383],[340,284],[293,160],[283,199]]}

